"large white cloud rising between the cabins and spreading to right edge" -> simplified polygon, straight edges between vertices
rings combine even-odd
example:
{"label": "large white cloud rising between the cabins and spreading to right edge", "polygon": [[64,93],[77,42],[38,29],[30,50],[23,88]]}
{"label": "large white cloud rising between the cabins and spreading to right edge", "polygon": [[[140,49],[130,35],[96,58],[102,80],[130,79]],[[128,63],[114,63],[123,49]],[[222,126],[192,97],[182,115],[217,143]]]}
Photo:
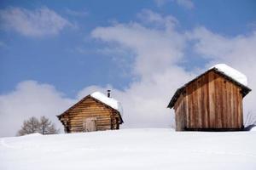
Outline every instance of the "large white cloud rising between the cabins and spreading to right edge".
{"label": "large white cloud rising between the cabins and spreading to right edge", "polygon": [[[165,106],[175,90],[196,72],[189,73],[181,66],[177,66],[185,59],[184,47],[189,44],[193,45],[199,57],[208,60],[204,69],[216,63],[226,63],[245,73],[250,87],[256,86],[255,32],[247,36],[224,37],[206,28],[198,27],[194,31],[180,33],[175,29],[175,25],[165,25],[168,20],[160,14],[144,10],[142,18],[149,22],[163,23],[165,29],[145,27],[130,22],[98,27],[92,31],[93,37],[109,44],[114,42],[118,48],[131,50],[132,54],[136,54],[133,70],[141,79],[132,82],[129,88],[117,93],[125,105],[127,112],[125,119],[128,120],[128,126],[133,123],[139,126],[147,122],[153,127],[166,126],[171,122],[171,118],[168,117],[171,111],[167,111]],[[255,100],[256,94],[253,92],[245,98],[245,116],[247,111],[256,114],[253,104]]]}

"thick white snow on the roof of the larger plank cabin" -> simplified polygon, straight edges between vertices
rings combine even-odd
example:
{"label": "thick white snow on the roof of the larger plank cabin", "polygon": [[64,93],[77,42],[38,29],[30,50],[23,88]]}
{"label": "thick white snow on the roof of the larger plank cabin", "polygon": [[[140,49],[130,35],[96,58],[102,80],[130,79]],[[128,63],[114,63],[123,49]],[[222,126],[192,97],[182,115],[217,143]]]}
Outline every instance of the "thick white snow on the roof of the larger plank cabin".
{"label": "thick white snow on the roof of the larger plank cabin", "polygon": [[222,72],[224,75],[231,77],[236,82],[239,82],[244,86],[247,86],[247,77],[244,74],[242,74],[240,71],[236,71],[236,69],[233,69],[229,65],[218,64],[218,65],[213,65],[210,69],[212,68],[215,68],[218,71]]}

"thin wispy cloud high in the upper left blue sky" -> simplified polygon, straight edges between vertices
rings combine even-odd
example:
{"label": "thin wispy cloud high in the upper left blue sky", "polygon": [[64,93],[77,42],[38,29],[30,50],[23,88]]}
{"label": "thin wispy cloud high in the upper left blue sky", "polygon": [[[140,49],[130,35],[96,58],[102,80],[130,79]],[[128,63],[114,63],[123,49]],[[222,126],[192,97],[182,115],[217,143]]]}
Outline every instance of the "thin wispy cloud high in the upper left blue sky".
{"label": "thin wispy cloud high in the upper left blue sky", "polygon": [[58,34],[64,27],[73,26],[68,20],[49,8],[28,10],[6,8],[0,10],[1,27],[28,37],[43,37]]}

